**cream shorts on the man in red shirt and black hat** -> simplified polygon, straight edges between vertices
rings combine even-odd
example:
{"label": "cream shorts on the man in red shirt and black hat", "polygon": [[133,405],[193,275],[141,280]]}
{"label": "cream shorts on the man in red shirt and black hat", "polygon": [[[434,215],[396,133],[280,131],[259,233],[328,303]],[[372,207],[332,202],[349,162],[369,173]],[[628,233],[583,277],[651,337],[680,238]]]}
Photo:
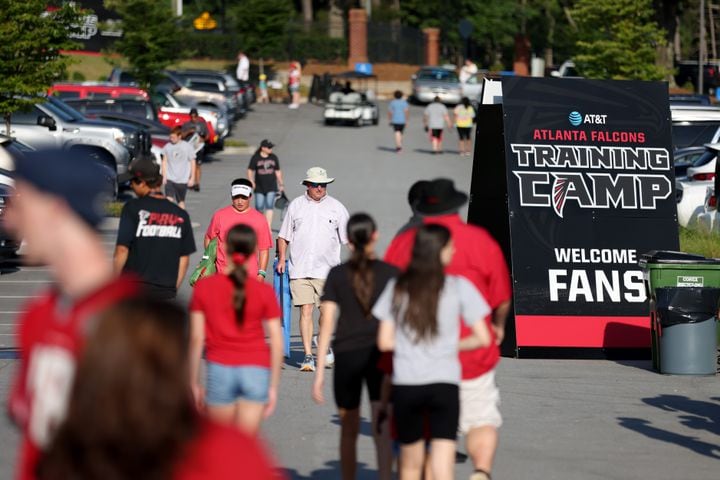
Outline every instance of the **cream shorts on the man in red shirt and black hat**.
{"label": "cream shorts on the man in red shirt and black hat", "polygon": [[471,380],[460,382],[459,430],[467,434],[473,428],[500,428],[500,391],[495,385],[495,370]]}

